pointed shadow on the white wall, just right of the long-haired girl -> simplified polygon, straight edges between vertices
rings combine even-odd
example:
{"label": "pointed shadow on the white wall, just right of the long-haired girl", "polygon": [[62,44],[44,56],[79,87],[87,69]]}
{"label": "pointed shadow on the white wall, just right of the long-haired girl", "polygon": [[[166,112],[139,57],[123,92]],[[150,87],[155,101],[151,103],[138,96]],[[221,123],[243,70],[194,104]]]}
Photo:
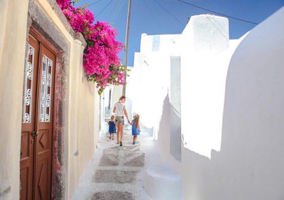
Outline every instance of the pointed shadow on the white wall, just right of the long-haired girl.
{"label": "pointed shadow on the white wall, just right of the long-haired girl", "polygon": [[180,116],[170,104],[169,95],[163,102],[157,143],[163,159],[169,161],[169,156],[173,156],[176,161],[181,161]]}

